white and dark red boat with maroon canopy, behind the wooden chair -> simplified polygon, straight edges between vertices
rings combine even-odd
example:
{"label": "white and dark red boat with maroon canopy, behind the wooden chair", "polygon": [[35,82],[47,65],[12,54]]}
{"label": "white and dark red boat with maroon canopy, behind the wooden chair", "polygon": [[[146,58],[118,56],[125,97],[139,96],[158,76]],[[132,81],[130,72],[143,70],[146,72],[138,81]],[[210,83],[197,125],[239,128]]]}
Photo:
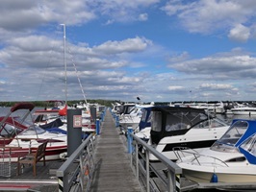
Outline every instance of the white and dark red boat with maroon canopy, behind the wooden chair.
{"label": "white and dark red boat with maroon canopy, behind the wooden chair", "polygon": [[[38,145],[48,141],[45,157],[47,160],[60,159],[60,154],[67,150],[67,136],[62,132],[47,132],[35,125],[30,103],[18,103],[10,112],[0,117],[0,156],[4,161],[16,161],[18,156],[36,152]],[[14,115],[17,110],[26,111],[23,118]],[[26,121],[25,121],[26,120]],[[29,120],[29,121],[28,121]]]}

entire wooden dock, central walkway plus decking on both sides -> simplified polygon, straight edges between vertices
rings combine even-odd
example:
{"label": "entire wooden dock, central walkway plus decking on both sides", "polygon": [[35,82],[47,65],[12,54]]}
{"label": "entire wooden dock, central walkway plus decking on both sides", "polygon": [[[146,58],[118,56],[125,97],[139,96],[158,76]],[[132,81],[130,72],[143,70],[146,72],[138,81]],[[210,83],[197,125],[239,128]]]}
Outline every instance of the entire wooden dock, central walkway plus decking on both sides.
{"label": "entire wooden dock, central walkway plus decking on both sides", "polygon": [[[93,137],[93,169],[91,169],[91,178],[89,184],[90,192],[143,192],[145,186],[141,186],[137,180],[135,170],[131,167],[131,155],[128,153],[128,143],[126,136],[116,128],[115,118],[112,116],[110,110],[105,111],[105,116],[100,124],[100,132],[97,135],[90,135]],[[81,145],[82,146],[82,145]],[[80,147],[81,147],[80,146]],[[79,148],[80,148],[79,147]],[[86,149],[82,146],[82,150]],[[68,158],[70,159],[70,158]],[[78,159],[78,158],[75,158]],[[66,160],[68,161],[68,160]],[[47,161],[46,166],[42,162],[37,164],[37,176],[33,176],[33,167],[26,166],[20,175],[16,175],[17,163],[0,163],[0,191],[40,191],[40,192],[77,192],[77,190],[63,190],[60,189],[60,178],[57,176],[58,170],[66,162],[64,159]],[[79,165],[78,161],[74,163]],[[134,164],[133,164],[134,166]],[[166,180],[166,165],[161,163],[150,163],[162,178]],[[83,167],[83,166],[80,166]],[[11,168],[11,175],[7,171]],[[164,171],[163,171],[164,170]],[[82,172],[81,172],[82,173]],[[85,173],[86,174],[86,173]],[[79,174],[80,175],[80,174]],[[83,173],[84,175],[84,173]],[[90,174],[89,174],[90,175]],[[141,178],[140,178],[141,179]],[[166,191],[163,187],[163,182],[160,177],[152,178],[155,184],[154,191]],[[78,181],[76,184],[83,182]],[[169,185],[175,184],[166,182]],[[174,182],[173,182],[174,183]],[[180,188],[176,191],[243,191],[255,190],[255,183],[195,183],[185,178],[180,178]],[[163,188],[162,188],[163,187]],[[82,191],[86,191],[85,188]],[[172,191],[172,190],[169,190]],[[175,190],[173,190],[175,191]]]}

